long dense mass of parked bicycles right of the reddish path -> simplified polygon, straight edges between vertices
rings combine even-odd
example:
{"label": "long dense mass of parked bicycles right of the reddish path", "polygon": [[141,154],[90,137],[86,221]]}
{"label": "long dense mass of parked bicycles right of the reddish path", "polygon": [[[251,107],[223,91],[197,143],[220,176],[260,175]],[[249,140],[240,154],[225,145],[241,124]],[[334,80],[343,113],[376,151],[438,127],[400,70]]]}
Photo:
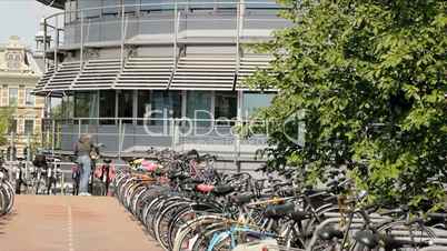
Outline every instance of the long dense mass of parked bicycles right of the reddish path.
{"label": "long dense mass of parked bicycles right of the reddish path", "polygon": [[368,204],[344,170],[328,169],[315,189],[297,179],[306,175],[299,169],[255,179],[201,165],[211,159],[151,151],[129,160],[115,181],[117,199],[169,251],[447,250],[439,223],[447,214]]}

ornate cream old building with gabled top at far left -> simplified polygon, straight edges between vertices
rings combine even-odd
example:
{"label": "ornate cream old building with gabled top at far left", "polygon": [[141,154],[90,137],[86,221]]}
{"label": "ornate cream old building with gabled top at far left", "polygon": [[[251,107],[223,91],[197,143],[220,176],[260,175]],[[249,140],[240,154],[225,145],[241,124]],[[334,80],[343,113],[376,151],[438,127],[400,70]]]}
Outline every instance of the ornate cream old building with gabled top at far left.
{"label": "ornate cream old building with gabled top at far left", "polygon": [[29,143],[40,141],[44,99],[32,93],[42,76],[38,60],[16,36],[0,46],[0,107],[13,110],[10,143],[2,148],[7,157],[22,157]]}

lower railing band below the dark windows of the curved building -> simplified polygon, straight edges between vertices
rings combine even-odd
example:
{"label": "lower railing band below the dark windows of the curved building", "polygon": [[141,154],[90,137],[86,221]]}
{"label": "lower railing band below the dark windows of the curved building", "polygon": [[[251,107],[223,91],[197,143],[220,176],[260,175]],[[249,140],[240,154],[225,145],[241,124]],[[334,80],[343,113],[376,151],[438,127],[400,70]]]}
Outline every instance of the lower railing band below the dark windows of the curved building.
{"label": "lower railing band below the dark windows of the curved building", "polygon": [[[137,118],[79,118],[44,120],[42,143],[44,149],[71,152],[73,143],[83,133],[103,143],[107,154],[138,155],[150,148],[218,154],[238,161],[254,159],[259,149],[267,147],[268,124],[264,121],[207,120],[207,119],[137,119]],[[264,128],[262,133],[257,129]],[[240,133],[244,128],[244,133]],[[245,134],[246,137],[241,137]]]}

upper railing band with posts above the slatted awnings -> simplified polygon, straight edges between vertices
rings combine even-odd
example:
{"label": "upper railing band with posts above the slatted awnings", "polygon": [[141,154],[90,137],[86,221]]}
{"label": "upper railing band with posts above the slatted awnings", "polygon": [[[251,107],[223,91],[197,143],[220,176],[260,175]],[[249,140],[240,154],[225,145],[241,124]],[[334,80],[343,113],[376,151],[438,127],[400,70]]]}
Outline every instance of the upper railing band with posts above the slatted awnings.
{"label": "upper railing band with posts above the slatted awnings", "polygon": [[[270,38],[275,29],[290,24],[278,18],[279,6],[260,2],[181,2],[108,6],[66,10],[44,19],[44,37],[53,43],[44,52],[62,48],[80,49],[82,63],[86,47],[97,43],[116,44],[125,49],[131,43],[172,44],[177,57],[178,44],[188,39],[209,38],[215,42],[236,43],[238,60],[241,40]],[[175,60],[175,59],[173,59]],[[54,61],[57,64],[57,60]]]}

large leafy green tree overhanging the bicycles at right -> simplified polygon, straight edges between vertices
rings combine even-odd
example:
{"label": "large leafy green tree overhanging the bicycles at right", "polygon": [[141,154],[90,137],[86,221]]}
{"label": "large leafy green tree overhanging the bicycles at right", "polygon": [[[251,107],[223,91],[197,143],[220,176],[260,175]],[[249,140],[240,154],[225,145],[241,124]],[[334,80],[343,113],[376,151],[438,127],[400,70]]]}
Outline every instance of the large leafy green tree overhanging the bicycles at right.
{"label": "large leafy green tree overhanging the bicycles at right", "polygon": [[[271,70],[248,80],[279,90],[269,142],[277,167],[314,175],[348,165],[371,200],[420,205],[444,193],[428,181],[446,169],[447,2],[445,0],[282,0],[294,26],[257,50]],[[281,124],[305,110],[306,144]],[[368,168],[359,164],[366,161]]]}

